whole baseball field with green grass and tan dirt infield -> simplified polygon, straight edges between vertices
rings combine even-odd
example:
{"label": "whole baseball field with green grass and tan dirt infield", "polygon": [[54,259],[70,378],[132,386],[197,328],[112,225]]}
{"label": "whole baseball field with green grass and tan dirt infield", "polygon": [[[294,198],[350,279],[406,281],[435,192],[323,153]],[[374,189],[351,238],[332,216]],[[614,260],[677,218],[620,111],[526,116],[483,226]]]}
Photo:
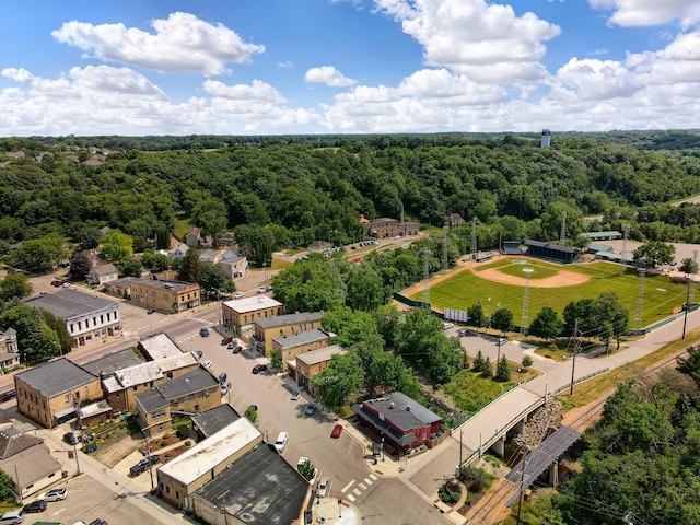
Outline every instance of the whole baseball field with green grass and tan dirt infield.
{"label": "whole baseball field with green grass and tan dirt infield", "polygon": [[[422,300],[424,285],[413,288],[409,296]],[[544,306],[561,315],[564,306],[580,299],[597,299],[603,292],[617,293],[634,327],[640,278],[633,268],[610,262],[557,265],[528,257],[500,257],[469,265],[435,280],[430,285],[430,302],[436,310],[467,310],[481,303],[487,315],[500,307],[513,312],[521,324],[525,290],[528,290],[528,324]],[[687,285],[666,276],[644,278],[641,326],[649,326],[678,312],[686,302]]]}

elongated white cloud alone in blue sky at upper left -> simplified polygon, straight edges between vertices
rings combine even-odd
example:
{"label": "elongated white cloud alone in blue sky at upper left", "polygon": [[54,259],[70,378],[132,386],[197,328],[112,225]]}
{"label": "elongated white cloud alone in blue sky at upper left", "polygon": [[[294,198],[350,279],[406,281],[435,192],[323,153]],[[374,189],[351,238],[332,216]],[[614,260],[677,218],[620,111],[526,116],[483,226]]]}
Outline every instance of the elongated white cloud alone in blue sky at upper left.
{"label": "elongated white cloud alone in blue sky at upper left", "polygon": [[265,46],[247,44],[222,24],[207,23],[194,14],[172,13],[151,23],[154,34],[124,24],[65,23],[51,35],[101,60],[159,71],[200,71],[221,74],[225,65],[249,62]]}

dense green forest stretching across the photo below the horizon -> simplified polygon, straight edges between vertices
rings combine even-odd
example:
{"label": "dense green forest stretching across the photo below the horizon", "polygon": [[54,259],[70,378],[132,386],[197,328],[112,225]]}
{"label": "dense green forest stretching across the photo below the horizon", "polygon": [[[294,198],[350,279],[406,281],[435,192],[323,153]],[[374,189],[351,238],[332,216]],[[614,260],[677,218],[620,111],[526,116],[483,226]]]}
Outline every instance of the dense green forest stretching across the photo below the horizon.
{"label": "dense green forest stretching across the photo below the horizon", "polygon": [[[642,150],[622,137],[684,148]],[[4,139],[0,253],[50,234],[81,242],[105,225],[142,244],[177,217],[214,237],[265,226],[270,248],[340,244],[363,236],[360,213],[401,210],[424,226],[476,217],[485,248],[558,238],[564,210],[572,242],[622,223],[631,238],[698,241],[700,208],[670,202],[700,192],[699,136],[654,137],[563,135],[547,149],[512,135]],[[602,219],[583,221],[592,214]]]}

